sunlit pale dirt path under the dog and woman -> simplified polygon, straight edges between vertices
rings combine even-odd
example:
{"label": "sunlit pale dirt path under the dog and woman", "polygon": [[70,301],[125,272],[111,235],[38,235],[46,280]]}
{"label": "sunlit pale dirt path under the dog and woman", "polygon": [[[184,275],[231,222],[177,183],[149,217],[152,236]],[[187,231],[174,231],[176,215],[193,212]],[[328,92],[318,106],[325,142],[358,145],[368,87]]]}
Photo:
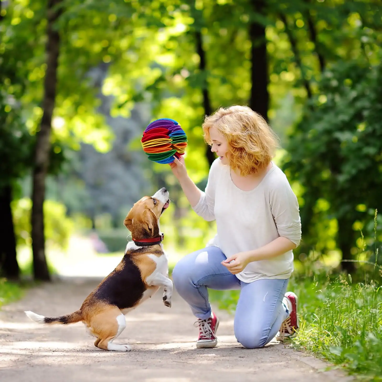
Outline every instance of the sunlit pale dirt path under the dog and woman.
{"label": "sunlit pale dirt path under the dog and woman", "polygon": [[0,380],[39,382],[145,381],[348,381],[339,371],[285,345],[241,347],[233,336],[233,319],[219,312],[219,344],[196,349],[197,329],[178,296],[166,308],[157,293],[126,315],[126,329],[116,343],[133,351],[117,353],[93,346],[82,323],[67,327],[30,321],[24,310],[59,316],[79,308],[99,279],[62,278],[29,290],[25,298],[0,311]]}

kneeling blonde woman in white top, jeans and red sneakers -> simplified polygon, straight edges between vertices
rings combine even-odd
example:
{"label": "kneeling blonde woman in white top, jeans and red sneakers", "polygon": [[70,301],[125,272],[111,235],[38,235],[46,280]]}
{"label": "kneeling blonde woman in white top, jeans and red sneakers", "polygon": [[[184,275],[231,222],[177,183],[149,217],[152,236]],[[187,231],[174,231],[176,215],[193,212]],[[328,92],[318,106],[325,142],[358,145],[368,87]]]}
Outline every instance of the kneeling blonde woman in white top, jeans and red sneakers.
{"label": "kneeling blonde woman in white top, jeans and red sneakers", "polygon": [[217,345],[219,320],[207,288],[241,290],[235,337],[246,348],[260,348],[276,334],[283,340],[298,330],[297,296],[285,293],[292,249],[301,239],[297,198],[271,160],[277,140],[259,114],[243,106],[220,108],[202,127],[218,156],[206,190],[189,178],[184,159],[170,166],[194,211],[216,220],[217,235],[176,264],[173,282],[198,319],[198,348]]}

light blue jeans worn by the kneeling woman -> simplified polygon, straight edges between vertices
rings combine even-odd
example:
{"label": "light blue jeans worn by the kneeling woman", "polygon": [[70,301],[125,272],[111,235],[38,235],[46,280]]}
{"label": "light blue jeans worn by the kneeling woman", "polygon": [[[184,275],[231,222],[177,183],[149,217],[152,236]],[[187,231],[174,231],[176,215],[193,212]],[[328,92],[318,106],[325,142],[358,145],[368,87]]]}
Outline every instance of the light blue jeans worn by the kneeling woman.
{"label": "light blue jeans worn by the kneeling woman", "polygon": [[181,259],[172,273],[174,286],[199,319],[211,315],[207,288],[241,289],[234,330],[245,348],[261,348],[275,337],[288,310],[282,303],[289,279],[240,281],[220,264],[227,257],[217,247],[207,247]]}

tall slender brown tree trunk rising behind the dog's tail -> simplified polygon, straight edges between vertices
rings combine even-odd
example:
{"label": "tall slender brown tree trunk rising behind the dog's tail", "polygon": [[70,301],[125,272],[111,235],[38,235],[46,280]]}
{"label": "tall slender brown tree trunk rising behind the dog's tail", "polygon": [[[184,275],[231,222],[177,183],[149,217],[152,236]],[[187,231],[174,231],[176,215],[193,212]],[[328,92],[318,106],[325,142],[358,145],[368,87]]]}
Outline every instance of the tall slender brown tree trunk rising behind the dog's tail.
{"label": "tall slender brown tree trunk rising behind the dog's tail", "polygon": [[48,0],[47,5],[47,70],[44,79],[44,109],[40,130],[36,133],[35,163],[33,169],[32,189],[32,251],[33,251],[33,274],[36,280],[50,280],[49,270],[45,258],[44,236],[44,199],[45,177],[49,165],[50,132],[53,109],[56,98],[57,66],[60,51],[60,35],[53,30],[53,24],[61,14],[57,9],[61,0]]}

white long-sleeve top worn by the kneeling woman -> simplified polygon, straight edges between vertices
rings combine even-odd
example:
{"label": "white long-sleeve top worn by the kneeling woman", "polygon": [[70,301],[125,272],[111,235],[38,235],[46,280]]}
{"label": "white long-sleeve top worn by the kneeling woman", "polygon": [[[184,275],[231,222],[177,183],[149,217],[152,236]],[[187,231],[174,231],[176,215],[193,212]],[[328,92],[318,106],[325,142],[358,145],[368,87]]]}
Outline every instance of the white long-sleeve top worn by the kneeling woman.
{"label": "white long-sleeve top worn by the kneeling woman", "polygon": [[[216,220],[217,235],[208,245],[219,247],[226,257],[251,251],[284,236],[299,245],[301,220],[298,201],[282,170],[272,168],[251,191],[238,188],[230,167],[216,159],[210,168],[206,190],[194,211],[205,220]],[[293,272],[293,252],[269,260],[254,261],[236,275],[249,283],[262,278],[288,278]]]}

